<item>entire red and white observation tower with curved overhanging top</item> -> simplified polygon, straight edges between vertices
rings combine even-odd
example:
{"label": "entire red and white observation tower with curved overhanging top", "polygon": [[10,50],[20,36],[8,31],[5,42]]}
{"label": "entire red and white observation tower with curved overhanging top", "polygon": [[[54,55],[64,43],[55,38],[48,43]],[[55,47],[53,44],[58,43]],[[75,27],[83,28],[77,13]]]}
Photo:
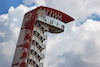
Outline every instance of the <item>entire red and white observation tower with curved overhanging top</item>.
{"label": "entire red and white observation tower with curved overhanging top", "polygon": [[40,6],[25,14],[12,67],[43,67],[46,32],[61,33],[74,19],[58,10]]}

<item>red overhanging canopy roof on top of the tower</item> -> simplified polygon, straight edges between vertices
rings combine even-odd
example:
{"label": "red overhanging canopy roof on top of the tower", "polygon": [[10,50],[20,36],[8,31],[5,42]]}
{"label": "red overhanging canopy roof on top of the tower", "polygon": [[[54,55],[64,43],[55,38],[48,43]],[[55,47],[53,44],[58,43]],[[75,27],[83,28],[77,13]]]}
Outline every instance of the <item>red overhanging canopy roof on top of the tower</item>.
{"label": "red overhanging canopy roof on top of the tower", "polygon": [[[55,19],[58,19],[58,20],[60,20],[60,21],[62,21],[64,23],[68,23],[68,22],[74,20],[72,17],[70,17],[69,15],[67,15],[67,14],[65,14],[65,13],[63,13],[61,11],[58,11],[56,9],[49,8],[49,7],[44,7],[44,6],[37,7],[36,9],[31,10],[30,12],[38,12],[38,10],[42,10],[42,11],[45,12],[45,14],[47,16],[53,17]],[[30,12],[28,12],[28,13],[30,13]]]}

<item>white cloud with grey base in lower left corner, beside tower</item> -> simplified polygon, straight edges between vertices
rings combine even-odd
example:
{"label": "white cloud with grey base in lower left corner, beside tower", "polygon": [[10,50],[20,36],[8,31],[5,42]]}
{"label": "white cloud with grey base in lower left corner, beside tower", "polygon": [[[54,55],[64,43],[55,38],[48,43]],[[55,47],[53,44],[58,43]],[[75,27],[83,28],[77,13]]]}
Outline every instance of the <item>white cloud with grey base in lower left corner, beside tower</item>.
{"label": "white cloud with grey base in lower left corner, beside tower", "polygon": [[0,42],[0,67],[11,67],[15,47],[13,40]]}

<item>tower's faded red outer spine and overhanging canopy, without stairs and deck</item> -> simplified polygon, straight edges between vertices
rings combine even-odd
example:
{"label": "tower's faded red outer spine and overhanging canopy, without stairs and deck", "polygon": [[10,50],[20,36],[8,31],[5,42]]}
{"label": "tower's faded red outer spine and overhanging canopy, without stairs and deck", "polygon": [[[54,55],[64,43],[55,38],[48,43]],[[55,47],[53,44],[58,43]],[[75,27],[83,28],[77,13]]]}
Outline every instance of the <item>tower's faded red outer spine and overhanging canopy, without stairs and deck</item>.
{"label": "tower's faded red outer spine and overhanging canopy, without stairs and deck", "polygon": [[[72,17],[68,16],[67,14],[61,11],[44,6],[37,7],[36,9],[26,13],[21,26],[15,50],[15,55],[12,62],[12,67],[28,67],[27,63],[28,63],[29,50],[32,40],[32,34],[34,31],[34,26],[37,20],[37,14],[39,10],[44,11],[45,15],[53,17],[64,23],[68,23],[74,20]],[[54,30],[49,30],[49,32],[55,33]]]}

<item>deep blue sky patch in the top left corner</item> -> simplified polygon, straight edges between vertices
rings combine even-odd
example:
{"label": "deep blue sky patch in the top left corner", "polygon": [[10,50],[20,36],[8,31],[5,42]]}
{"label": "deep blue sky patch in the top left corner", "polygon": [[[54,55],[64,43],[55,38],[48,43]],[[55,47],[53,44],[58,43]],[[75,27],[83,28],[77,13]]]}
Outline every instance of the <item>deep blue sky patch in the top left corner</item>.
{"label": "deep blue sky patch in the top left corner", "polygon": [[[0,15],[8,13],[8,9],[11,6],[16,8],[20,4],[24,4],[22,0],[0,0]],[[35,5],[35,3],[33,3],[31,6],[33,6],[33,5]],[[28,6],[28,7],[30,7],[30,6]]]}

